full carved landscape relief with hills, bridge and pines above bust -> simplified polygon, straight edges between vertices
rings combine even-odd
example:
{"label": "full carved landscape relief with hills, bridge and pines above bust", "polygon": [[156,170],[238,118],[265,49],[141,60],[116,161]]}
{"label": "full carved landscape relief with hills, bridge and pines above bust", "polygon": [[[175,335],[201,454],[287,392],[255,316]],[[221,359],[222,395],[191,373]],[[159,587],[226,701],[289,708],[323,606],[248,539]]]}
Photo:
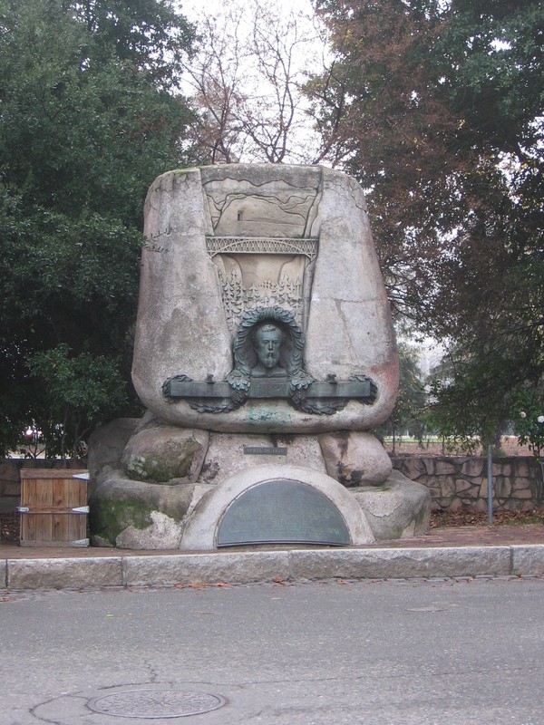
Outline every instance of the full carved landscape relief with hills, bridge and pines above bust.
{"label": "full carved landscape relief with hills, bridge and pines above bust", "polygon": [[223,179],[205,184],[213,236],[206,239],[228,330],[236,333],[244,313],[257,307],[289,310],[306,329],[317,239],[315,189],[284,181],[256,187]]}

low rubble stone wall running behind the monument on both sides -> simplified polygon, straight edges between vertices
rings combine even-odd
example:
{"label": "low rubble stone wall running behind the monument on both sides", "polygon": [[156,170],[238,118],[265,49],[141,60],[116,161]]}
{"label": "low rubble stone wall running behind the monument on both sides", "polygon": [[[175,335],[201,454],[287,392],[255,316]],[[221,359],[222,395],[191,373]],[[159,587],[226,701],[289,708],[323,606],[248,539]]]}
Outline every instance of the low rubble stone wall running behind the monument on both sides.
{"label": "low rubble stone wall running behind the monument on both sides", "polygon": [[[431,492],[432,509],[487,510],[487,459],[452,457],[392,457],[393,468],[423,483]],[[20,503],[20,469],[84,469],[85,460],[0,459],[0,513]],[[543,503],[542,471],[532,458],[493,462],[494,507],[529,511]]]}

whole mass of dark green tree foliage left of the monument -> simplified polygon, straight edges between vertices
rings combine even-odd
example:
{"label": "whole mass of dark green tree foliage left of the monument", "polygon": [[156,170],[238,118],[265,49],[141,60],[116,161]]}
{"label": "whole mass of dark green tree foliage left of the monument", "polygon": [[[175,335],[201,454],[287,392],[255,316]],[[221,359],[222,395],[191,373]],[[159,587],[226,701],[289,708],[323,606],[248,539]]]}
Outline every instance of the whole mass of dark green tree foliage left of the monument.
{"label": "whole mass of dark green tree foliage left of the monument", "polygon": [[[143,201],[156,176],[186,162],[193,117],[172,90],[191,39],[162,0],[0,0],[4,453],[32,421],[48,449],[75,451],[92,421],[137,406],[128,382]],[[55,388],[46,361],[59,351],[61,367],[83,375],[84,399]],[[111,401],[106,371],[124,391]],[[60,447],[52,411],[68,426]]]}

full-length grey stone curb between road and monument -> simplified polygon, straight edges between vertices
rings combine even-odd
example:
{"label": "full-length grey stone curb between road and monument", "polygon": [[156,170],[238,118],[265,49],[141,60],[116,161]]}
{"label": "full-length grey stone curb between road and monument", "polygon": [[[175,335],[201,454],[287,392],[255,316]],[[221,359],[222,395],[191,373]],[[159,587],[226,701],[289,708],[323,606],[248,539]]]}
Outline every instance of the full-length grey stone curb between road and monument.
{"label": "full-length grey stone curb between road and monument", "polygon": [[544,545],[294,549],[0,560],[0,589],[544,575]]}

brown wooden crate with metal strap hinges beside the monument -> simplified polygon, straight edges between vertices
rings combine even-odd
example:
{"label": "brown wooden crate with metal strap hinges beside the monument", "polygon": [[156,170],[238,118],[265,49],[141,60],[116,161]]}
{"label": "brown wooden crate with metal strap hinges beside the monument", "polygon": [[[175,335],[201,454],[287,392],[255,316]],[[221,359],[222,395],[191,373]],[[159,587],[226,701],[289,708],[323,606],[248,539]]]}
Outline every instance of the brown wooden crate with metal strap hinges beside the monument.
{"label": "brown wooden crate with metal strap hinges beside the monument", "polygon": [[86,473],[21,469],[20,546],[89,546]]}

